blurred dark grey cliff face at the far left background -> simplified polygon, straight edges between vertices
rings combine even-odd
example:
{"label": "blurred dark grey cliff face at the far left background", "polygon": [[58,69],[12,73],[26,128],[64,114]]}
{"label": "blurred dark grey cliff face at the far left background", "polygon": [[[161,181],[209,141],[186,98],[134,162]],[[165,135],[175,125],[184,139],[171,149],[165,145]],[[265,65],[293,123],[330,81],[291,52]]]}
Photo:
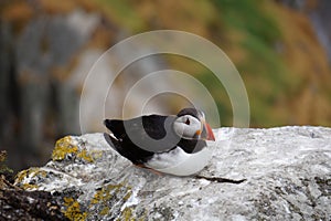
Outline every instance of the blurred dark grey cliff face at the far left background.
{"label": "blurred dark grey cliff face at the far left background", "polygon": [[70,70],[100,21],[84,10],[50,14],[31,2],[21,6],[26,20],[6,14],[10,7],[0,20],[0,146],[18,169],[45,160],[55,137],[79,134],[81,94]]}

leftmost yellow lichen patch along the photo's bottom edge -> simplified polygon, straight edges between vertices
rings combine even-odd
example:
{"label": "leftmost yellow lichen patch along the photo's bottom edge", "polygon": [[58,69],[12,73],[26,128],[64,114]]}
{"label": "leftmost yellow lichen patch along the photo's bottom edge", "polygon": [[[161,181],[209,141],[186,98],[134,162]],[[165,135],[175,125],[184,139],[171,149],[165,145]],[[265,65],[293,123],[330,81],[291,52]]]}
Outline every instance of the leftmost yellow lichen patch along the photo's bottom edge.
{"label": "leftmost yellow lichen patch along the photo's bottom edge", "polygon": [[66,209],[62,210],[64,215],[70,220],[81,221],[86,220],[87,212],[81,211],[81,204],[73,198],[63,198]]}

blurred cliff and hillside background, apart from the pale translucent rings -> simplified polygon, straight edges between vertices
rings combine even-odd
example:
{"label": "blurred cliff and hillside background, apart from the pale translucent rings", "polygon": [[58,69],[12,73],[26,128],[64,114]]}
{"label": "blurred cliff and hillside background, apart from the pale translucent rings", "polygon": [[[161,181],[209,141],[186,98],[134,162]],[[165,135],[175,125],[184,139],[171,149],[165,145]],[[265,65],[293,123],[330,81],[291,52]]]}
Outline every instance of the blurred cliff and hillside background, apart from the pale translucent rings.
{"label": "blurred cliff and hillside background, apart from the pale translucent rings", "polygon": [[[94,62],[120,40],[151,30],[188,31],[224,50],[246,85],[252,127],[331,126],[329,0],[58,2],[0,1],[0,149],[8,151],[14,170],[45,164],[57,138],[79,135],[79,97]],[[107,83],[111,63],[127,53],[99,67],[105,77],[87,90],[90,105],[84,106],[92,115],[104,108],[93,105],[100,97],[93,92]],[[222,84],[203,65],[174,55],[147,57],[124,70],[109,92],[107,117],[120,116],[122,98],[135,82],[164,69],[202,82],[216,101],[222,126],[232,126],[232,105]],[[175,83],[166,78],[151,87]],[[175,113],[188,104],[170,94],[153,98],[147,108]],[[129,106],[132,115],[136,105]],[[87,129],[105,130],[93,118]]]}

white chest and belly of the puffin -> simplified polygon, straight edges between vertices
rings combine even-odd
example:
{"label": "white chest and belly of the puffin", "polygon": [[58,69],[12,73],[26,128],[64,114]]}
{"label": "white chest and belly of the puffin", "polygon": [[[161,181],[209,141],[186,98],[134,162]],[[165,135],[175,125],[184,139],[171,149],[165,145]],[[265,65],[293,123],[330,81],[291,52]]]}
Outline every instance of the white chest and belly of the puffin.
{"label": "white chest and belly of the puffin", "polygon": [[156,154],[146,166],[160,172],[190,176],[202,170],[212,157],[209,148],[203,148],[199,152],[186,154],[180,147],[169,152]]}

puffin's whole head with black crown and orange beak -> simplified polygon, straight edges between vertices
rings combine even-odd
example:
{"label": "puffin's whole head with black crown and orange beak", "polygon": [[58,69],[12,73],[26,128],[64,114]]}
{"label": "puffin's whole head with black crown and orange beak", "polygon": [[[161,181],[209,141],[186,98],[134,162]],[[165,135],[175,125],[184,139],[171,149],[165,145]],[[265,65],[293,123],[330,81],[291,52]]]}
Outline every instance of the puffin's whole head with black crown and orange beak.
{"label": "puffin's whole head with black crown and orange beak", "polygon": [[211,126],[205,122],[204,113],[195,108],[184,108],[177,115],[173,129],[183,138],[215,140]]}

